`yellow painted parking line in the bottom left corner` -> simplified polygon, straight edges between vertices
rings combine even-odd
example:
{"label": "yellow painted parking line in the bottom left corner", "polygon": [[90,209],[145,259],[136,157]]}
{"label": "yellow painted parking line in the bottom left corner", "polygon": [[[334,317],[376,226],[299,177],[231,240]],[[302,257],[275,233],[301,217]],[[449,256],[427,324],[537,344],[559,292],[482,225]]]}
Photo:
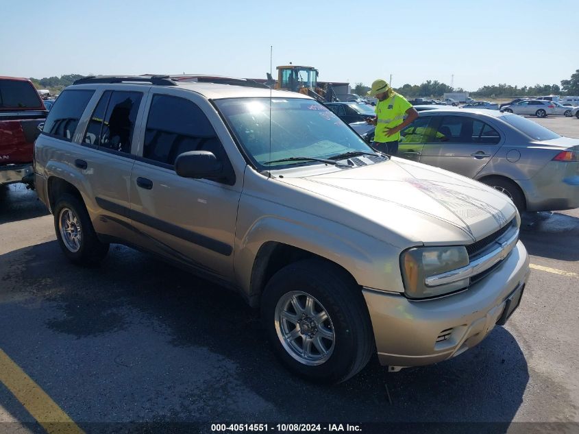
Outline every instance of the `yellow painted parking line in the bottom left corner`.
{"label": "yellow painted parking line in the bottom left corner", "polygon": [[49,434],[84,434],[32,378],[0,348],[0,381]]}

